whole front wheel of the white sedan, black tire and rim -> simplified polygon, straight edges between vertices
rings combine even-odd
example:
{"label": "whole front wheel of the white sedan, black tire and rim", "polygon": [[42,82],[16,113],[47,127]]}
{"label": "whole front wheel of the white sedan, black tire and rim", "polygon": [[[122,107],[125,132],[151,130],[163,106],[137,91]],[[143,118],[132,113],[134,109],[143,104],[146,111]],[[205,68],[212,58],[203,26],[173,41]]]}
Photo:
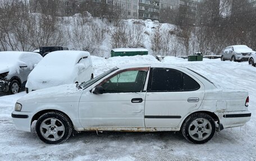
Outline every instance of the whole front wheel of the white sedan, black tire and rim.
{"label": "whole front wheel of the white sedan, black tire and rim", "polygon": [[72,134],[70,119],[60,112],[47,112],[38,118],[35,131],[39,139],[47,144],[65,142]]}

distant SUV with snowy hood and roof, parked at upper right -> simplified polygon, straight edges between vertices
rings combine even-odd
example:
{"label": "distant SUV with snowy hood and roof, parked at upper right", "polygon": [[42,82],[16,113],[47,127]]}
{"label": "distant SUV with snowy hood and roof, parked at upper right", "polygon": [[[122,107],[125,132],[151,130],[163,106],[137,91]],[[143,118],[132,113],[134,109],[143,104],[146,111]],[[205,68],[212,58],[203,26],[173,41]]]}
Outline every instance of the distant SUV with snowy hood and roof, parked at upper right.
{"label": "distant SUV with snowy hood and roof, parked at upper right", "polygon": [[232,45],[223,49],[221,53],[221,61],[248,61],[250,54],[254,51],[246,45]]}

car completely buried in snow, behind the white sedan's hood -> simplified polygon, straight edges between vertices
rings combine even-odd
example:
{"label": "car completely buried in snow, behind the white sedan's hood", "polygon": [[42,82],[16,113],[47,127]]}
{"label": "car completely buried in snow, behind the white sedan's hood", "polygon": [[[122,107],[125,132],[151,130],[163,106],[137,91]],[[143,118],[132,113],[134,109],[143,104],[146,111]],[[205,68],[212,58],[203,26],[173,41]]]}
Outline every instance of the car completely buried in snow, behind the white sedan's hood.
{"label": "car completely buried in snow, behind the white sedan's hood", "polygon": [[84,82],[93,79],[92,59],[89,52],[60,50],[47,54],[29,74],[25,90]]}

